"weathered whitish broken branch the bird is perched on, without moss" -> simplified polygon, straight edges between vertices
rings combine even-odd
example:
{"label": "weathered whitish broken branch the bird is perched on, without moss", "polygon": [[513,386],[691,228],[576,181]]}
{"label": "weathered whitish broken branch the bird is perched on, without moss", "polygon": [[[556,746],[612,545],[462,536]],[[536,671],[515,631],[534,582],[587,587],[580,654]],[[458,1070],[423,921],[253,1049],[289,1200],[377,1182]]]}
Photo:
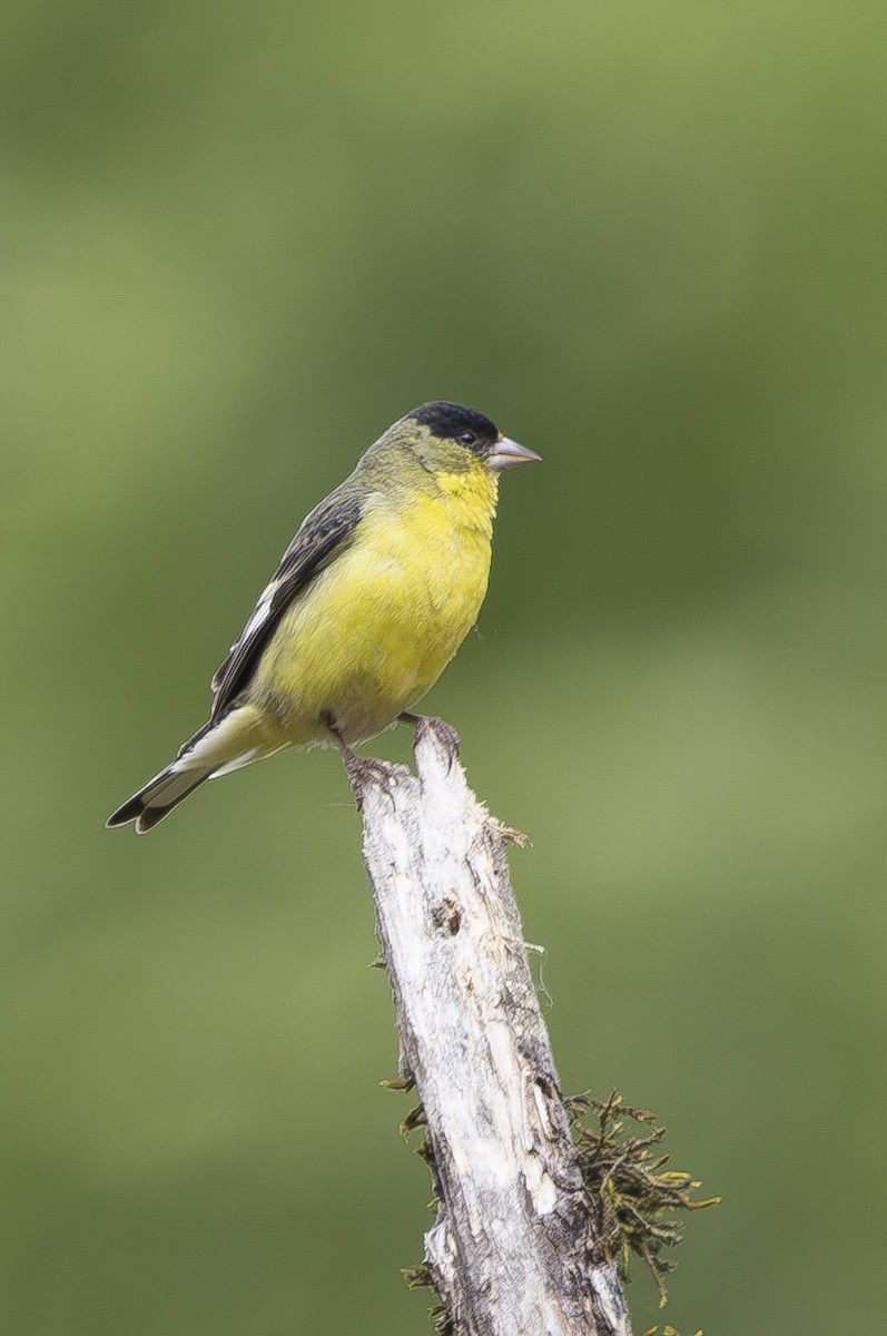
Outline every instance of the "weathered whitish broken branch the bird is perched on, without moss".
{"label": "weathered whitish broken branch the bird is perched on, without moss", "polygon": [[631,1336],[576,1164],[505,858],[458,740],[417,728],[417,776],[349,767],[441,1206],[426,1263],[460,1336]]}

